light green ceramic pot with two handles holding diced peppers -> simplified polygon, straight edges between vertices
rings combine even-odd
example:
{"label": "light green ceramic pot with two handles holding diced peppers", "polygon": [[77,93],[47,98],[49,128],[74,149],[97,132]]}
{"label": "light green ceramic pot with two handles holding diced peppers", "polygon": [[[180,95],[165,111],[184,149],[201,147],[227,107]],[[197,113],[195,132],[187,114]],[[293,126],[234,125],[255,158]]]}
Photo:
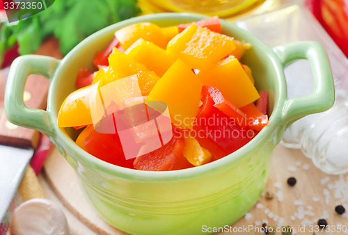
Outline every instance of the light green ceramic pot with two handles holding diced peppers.
{"label": "light green ceramic pot with two handles holding diced peppers", "polygon": [[[146,172],[111,165],[84,152],[72,130],[57,127],[57,113],[75,90],[79,67],[92,67],[97,51],[106,47],[117,29],[136,22],[171,26],[205,16],[165,13],[128,19],[102,29],[75,47],[63,60],[21,56],[10,68],[6,115],[10,122],[45,133],[77,173],[95,209],[111,225],[131,234],[200,234],[208,227],[230,225],[250,210],[267,181],[271,152],[295,120],[325,111],[333,104],[333,79],[324,49],[317,42],[296,42],[270,49],[253,35],[222,21],[222,33],[253,45],[243,58],[258,90],[269,92],[269,125],[233,154],[197,168]],[[315,77],[313,95],[287,99],[284,67],[307,59]],[[47,111],[26,108],[23,90],[29,74],[51,81]],[[301,89],[301,84],[299,84]]]}

